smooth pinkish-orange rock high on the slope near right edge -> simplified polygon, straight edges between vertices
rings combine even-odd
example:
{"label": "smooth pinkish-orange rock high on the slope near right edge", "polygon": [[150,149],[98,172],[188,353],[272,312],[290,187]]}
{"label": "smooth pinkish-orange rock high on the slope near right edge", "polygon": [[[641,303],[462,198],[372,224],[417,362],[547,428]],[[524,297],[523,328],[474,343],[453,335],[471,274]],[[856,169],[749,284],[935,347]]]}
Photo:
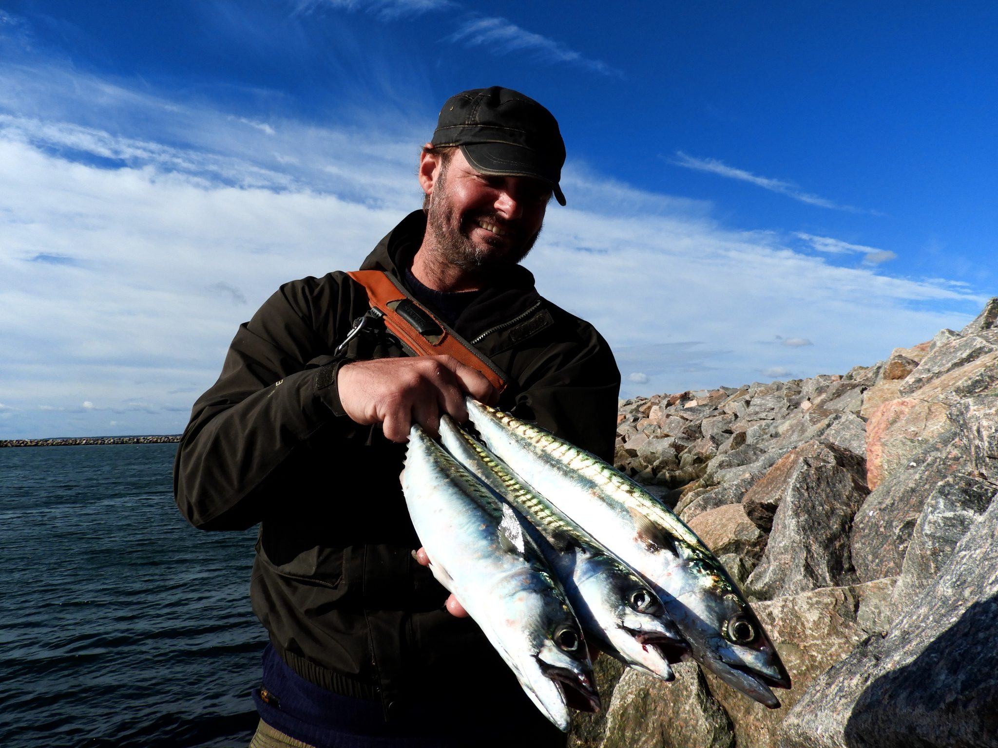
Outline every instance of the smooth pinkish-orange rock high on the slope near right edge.
{"label": "smooth pinkish-orange rock high on the slope near right edge", "polygon": [[915,398],[890,400],[866,422],[866,484],[875,489],[884,478],[950,428],[948,408]]}

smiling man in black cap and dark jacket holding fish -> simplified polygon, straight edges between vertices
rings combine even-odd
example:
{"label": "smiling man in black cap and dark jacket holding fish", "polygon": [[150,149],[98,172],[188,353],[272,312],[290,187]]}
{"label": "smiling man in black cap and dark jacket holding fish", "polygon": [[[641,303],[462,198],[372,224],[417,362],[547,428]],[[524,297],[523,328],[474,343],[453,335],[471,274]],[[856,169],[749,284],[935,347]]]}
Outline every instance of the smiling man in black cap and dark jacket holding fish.
{"label": "smiling man in black cap and dark jacket holding fish", "polygon": [[[466,394],[610,458],[620,374],[587,322],[517,263],[559,187],[554,117],[492,87],[449,99],[423,149],[423,210],[364,260],[505,373],[501,395],[449,356],[405,357],[342,272],[286,283],[240,327],[175,465],[206,530],[259,523],[250,596],[269,633],[253,745],[556,745],[459,603],[413,561],[398,476],[409,427]],[[425,558],[421,560],[425,563]],[[297,741],[297,742],[295,742]]]}

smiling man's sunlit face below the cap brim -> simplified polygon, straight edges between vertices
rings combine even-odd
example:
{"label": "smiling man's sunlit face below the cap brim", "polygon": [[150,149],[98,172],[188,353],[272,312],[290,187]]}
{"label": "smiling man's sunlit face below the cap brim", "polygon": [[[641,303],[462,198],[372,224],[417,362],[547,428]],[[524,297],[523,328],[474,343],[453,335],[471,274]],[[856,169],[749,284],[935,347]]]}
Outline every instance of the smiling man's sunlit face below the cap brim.
{"label": "smiling man's sunlit face below the cap brim", "polygon": [[476,172],[459,149],[433,181],[427,225],[441,259],[468,272],[523,259],[544,222],[551,187]]}

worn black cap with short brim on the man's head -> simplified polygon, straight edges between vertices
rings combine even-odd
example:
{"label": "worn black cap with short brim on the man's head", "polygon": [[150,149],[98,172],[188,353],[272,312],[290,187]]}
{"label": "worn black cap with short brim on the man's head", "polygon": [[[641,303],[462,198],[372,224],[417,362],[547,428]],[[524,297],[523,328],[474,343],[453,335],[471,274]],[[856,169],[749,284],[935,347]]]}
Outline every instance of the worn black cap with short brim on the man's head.
{"label": "worn black cap with short brim on the man's head", "polygon": [[558,187],[565,164],[558,121],[528,96],[501,86],[462,91],[444,103],[431,143],[460,146],[481,174],[546,182],[565,204]]}

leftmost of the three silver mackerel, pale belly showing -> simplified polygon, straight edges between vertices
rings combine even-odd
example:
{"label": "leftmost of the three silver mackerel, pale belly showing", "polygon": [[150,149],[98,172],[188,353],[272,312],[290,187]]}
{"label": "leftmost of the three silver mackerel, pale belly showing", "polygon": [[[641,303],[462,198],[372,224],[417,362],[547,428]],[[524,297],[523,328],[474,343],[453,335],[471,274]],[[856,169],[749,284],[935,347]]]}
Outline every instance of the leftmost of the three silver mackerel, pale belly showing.
{"label": "leftmost of the three silver mackerel, pale belly showing", "polygon": [[[414,425],[401,476],[409,516],[434,576],[454,593],[560,729],[569,702],[599,708],[578,620],[523,527]],[[512,513],[512,514],[511,514]]]}

